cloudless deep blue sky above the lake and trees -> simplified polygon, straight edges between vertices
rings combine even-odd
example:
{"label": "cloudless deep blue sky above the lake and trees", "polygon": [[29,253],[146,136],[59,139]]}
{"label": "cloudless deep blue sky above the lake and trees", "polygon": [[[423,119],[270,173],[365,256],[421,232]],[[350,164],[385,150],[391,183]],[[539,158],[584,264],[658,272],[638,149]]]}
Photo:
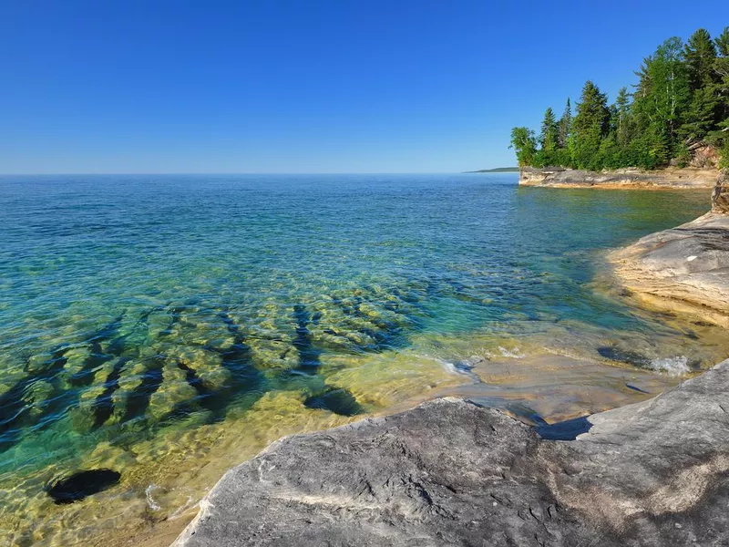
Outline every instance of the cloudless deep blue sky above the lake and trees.
{"label": "cloudless deep blue sky above the lake and trees", "polygon": [[0,172],[459,172],[514,165],[729,3],[3,0]]}

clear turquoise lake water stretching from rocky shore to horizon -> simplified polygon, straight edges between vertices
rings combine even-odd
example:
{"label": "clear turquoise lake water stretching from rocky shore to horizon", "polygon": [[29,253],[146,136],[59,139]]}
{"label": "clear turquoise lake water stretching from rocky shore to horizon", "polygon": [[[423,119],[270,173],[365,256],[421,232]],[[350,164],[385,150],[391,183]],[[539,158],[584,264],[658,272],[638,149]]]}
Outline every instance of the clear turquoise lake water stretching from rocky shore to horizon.
{"label": "clear turquoise lake water stretching from rocky shore to horizon", "polygon": [[[0,178],[0,532],[69,544],[159,521],[241,453],[460,382],[443,364],[473,353],[726,355],[593,282],[604,249],[695,218],[707,192],[516,183]],[[93,467],[121,484],[44,493]]]}

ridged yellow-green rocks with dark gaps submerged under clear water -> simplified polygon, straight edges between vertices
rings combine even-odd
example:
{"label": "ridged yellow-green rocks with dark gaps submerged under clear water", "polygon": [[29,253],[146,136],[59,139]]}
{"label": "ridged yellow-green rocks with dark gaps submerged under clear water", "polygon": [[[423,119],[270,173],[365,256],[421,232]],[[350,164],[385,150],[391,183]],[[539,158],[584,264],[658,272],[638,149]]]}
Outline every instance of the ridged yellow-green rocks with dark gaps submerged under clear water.
{"label": "ridged yellow-green rocks with dark gaps submerged under clear water", "polygon": [[266,391],[287,388],[291,374],[312,377],[307,408],[361,413],[352,394],[314,378],[323,376],[320,356],[403,345],[426,290],[419,284],[337,289],[291,307],[245,311],[190,299],[114,316],[80,339],[27,358],[25,374],[0,392],[0,453],[28,430],[65,416],[80,434],[139,427],[140,420],[147,428],[164,426],[194,413],[218,421],[241,398],[250,405]]}

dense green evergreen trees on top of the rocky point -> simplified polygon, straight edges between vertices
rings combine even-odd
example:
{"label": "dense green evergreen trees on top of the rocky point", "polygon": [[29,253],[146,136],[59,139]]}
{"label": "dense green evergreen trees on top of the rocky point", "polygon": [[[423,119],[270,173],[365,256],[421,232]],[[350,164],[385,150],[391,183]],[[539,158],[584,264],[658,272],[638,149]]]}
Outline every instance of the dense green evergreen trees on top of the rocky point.
{"label": "dense green evergreen trees on top of the rocky point", "polygon": [[572,115],[570,99],[560,119],[547,108],[539,135],[511,130],[519,167],[560,166],[603,170],[685,166],[697,144],[713,145],[729,167],[729,27],[712,38],[700,28],[684,44],[662,43],[635,72],[633,91],[615,102],[593,82],[582,88]]}

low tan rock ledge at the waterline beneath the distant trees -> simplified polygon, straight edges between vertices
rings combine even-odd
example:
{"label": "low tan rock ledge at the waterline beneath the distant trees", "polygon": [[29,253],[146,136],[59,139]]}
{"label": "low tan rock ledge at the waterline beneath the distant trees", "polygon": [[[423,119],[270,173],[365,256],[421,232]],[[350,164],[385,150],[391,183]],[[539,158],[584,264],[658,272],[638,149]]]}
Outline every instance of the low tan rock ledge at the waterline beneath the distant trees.
{"label": "low tan rock ledge at the waterline beneath the distant trees", "polygon": [[668,168],[663,170],[620,169],[589,171],[563,168],[526,167],[519,173],[519,184],[556,188],[712,188],[715,169]]}

